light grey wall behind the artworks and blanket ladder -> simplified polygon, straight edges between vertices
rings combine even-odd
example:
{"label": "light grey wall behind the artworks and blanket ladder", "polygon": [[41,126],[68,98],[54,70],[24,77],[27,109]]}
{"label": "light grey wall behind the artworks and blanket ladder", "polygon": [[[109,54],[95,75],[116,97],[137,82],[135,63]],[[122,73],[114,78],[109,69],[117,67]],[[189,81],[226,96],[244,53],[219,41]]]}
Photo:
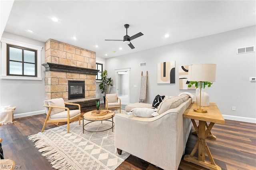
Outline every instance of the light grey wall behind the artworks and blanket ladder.
{"label": "light grey wall behind the artworks and blanket ladder", "polygon": [[[256,76],[256,53],[236,54],[237,48],[256,45],[255,30],[256,26],[250,26],[109,58],[106,59],[108,77],[115,79],[114,69],[130,67],[130,103],[135,103],[139,98],[141,71],[148,71],[147,103],[152,103],[158,94],[195,93],[195,90],[179,90],[179,66],[216,63],[216,82],[205,89],[210,102],[217,104],[225,119],[256,123],[256,83],[249,81],[249,77]],[[164,61],[176,61],[175,84],[157,84],[156,65]],[[141,62],[147,65],[140,67]],[[232,106],[236,111],[232,111]]]}

